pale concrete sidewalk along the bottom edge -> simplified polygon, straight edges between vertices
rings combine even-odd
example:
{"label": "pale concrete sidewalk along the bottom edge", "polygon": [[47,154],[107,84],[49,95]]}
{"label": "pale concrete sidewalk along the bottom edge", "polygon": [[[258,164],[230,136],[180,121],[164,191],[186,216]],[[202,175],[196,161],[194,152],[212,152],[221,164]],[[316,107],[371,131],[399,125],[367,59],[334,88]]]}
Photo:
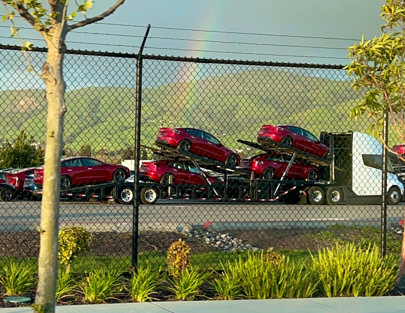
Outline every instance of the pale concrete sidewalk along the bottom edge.
{"label": "pale concrete sidewalk along the bottom edge", "polygon": [[[32,309],[0,309],[31,313]],[[66,305],[56,313],[404,313],[405,296]]]}

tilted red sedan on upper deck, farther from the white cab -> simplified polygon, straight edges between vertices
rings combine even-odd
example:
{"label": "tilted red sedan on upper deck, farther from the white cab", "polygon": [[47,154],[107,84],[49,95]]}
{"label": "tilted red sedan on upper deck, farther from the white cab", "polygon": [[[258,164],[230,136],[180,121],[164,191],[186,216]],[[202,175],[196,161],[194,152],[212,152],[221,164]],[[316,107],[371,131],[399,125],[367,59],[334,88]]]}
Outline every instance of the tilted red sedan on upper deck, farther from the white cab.
{"label": "tilted red sedan on upper deck, farther from the white cab", "polygon": [[230,166],[238,166],[241,160],[237,153],[226,148],[213,135],[195,128],[162,127],[155,143],[163,147],[175,147],[182,152],[201,155]]}

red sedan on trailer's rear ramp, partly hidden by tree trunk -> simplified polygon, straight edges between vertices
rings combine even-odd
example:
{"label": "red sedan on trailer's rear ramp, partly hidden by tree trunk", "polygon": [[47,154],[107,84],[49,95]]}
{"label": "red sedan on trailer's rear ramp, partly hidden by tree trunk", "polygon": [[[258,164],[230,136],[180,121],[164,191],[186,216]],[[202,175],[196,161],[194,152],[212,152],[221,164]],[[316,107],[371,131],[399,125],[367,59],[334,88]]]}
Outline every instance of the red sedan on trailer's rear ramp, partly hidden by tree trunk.
{"label": "red sedan on trailer's rear ramp, partly hidden by tree trunk", "polygon": [[[122,183],[129,176],[129,168],[122,165],[107,164],[92,158],[69,157],[61,161],[60,189],[66,190],[72,186],[107,181]],[[34,184],[42,188],[43,179],[43,167],[37,168],[34,173]]]}

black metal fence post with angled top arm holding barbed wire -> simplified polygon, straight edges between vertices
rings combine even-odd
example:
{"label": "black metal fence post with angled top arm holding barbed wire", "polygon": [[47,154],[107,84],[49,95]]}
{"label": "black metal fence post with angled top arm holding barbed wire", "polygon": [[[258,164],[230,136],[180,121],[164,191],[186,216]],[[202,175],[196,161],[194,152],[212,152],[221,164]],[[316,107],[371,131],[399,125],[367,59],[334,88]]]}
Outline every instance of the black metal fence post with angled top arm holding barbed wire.
{"label": "black metal fence post with angled top arm holding barbed wire", "polygon": [[148,25],[145,36],[136,58],[136,107],[135,107],[135,166],[134,166],[134,206],[132,210],[132,267],[138,266],[138,232],[139,232],[139,164],[141,162],[141,111],[142,111],[142,51],[151,25]]}

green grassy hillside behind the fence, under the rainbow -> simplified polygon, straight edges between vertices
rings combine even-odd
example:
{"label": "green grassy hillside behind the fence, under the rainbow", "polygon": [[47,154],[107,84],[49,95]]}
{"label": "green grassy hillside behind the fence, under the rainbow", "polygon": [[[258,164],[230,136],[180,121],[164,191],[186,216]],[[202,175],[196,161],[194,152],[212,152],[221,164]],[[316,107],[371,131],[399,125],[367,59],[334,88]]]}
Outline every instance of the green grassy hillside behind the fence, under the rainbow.
{"label": "green grassy hillside behind the fence, under the rainbow", "polygon": [[[46,102],[43,90],[0,92],[0,140],[25,128],[43,141]],[[192,126],[225,133],[227,146],[245,149],[237,139],[254,140],[262,124],[295,124],[321,131],[365,132],[369,121],[349,118],[358,102],[350,82],[273,69],[241,71],[203,80],[164,84],[143,90],[142,141],[152,145],[160,127]],[[134,142],[135,89],[89,87],[66,92],[65,143],[73,151],[90,144],[119,150]],[[152,122],[155,120],[155,122]],[[171,122],[170,122],[171,121]],[[390,130],[393,132],[393,129]],[[397,142],[396,136],[391,136]],[[110,146],[111,145],[111,146]]]}

